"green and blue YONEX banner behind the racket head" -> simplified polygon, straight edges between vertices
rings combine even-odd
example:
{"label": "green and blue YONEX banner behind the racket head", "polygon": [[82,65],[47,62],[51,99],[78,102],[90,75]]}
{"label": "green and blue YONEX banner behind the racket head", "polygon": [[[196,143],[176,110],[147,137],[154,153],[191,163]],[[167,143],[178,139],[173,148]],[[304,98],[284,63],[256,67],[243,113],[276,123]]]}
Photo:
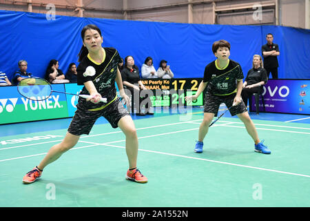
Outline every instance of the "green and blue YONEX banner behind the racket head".
{"label": "green and blue YONEX banner behind the racket head", "polygon": [[[53,90],[64,91],[63,84],[52,85]],[[0,124],[30,122],[41,119],[68,117],[65,95],[52,93],[43,101],[32,101],[17,92],[17,86],[0,87]]]}

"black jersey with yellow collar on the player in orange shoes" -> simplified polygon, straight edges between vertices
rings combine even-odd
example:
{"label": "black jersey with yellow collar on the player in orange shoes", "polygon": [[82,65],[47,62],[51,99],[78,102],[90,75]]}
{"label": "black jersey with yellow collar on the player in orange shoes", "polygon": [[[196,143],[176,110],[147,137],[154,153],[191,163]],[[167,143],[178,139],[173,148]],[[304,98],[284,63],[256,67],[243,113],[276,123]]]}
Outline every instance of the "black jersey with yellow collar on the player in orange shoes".
{"label": "black jersey with yellow collar on the player in orange shoes", "polygon": [[[101,61],[101,63],[94,61],[89,54],[82,59],[79,66],[76,68],[77,84],[83,85],[86,81],[92,81],[98,93],[100,93],[102,97],[106,97],[107,104],[110,104],[110,102],[116,99],[115,78],[118,64],[121,63],[122,60],[115,48],[103,48],[103,50],[105,51],[105,56],[103,57],[103,61]],[[94,76],[85,77],[83,75],[88,66],[92,66],[96,70]],[[81,95],[82,94],[90,94],[85,86],[81,91]],[[81,97],[79,97],[79,104],[91,111],[96,111],[107,105],[102,102],[99,102],[98,104],[86,102],[85,99]]]}

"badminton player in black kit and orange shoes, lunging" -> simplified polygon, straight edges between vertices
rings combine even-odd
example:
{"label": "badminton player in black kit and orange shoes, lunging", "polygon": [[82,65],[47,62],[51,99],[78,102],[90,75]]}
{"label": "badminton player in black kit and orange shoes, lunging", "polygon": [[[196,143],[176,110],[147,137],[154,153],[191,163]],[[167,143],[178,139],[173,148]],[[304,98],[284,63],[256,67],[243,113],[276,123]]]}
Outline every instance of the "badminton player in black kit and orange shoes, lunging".
{"label": "badminton player in black kit and orange shoes, lunging", "polygon": [[[113,128],[119,127],[126,136],[126,153],[129,161],[126,179],[145,183],[147,177],[136,168],[138,155],[138,137],[134,122],[121,99],[116,95],[115,81],[121,97],[129,104],[125,95],[121,73],[118,64],[121,57],[115,48],[103,48],[101,30],[94,25],[88,25],[81,31],[83,47],[79,54],[77,68],[78,84],[84,85],[81,94],[91,95],[90,99],[79,97],[77,110],[68,128],[68,133],[60,144],[50,148],[48,154],[38,166],[23,177],[23,183],[30,184],[37,180],[48,164],[57,160],[63,153],[70,150],[79,141],[82,134],[89,134],[96,119],[103,116]],[[92,70],[92,71],[89,71]],[[107,98],[107,103],[99,102],[101,97]]]}

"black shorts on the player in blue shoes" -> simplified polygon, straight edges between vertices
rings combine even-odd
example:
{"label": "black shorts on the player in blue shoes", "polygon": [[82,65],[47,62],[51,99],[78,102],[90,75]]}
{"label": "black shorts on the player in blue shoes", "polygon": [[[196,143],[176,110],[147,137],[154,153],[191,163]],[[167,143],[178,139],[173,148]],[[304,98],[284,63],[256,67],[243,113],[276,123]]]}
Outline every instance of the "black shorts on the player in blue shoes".
{"label": "black shorts on the player in blue shoes", "polygon": [[[204,113],[214,113],[215,116],[218,115],[218,108],[220,108],[220,104],[225,104],[227,108],[230,108],[234,103],[234,98],[236,97],[236,93],[232,93],[231,95],[213,95],[211,93],[206,93],[205,95],[205,108],[203,110]],[[233,106],[229,109],[231,116],[238,115],[240,113],[247,112],[247,107],[245,106],[245,102],[241,101],[240,104]]]}

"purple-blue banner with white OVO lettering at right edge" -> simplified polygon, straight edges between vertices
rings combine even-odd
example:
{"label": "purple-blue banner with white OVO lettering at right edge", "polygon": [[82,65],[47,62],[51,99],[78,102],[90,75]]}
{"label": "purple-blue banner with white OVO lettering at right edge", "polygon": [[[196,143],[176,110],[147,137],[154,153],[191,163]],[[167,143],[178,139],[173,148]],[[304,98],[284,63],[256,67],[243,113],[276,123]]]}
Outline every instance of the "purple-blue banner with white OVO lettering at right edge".
{"label": "purple-blue banner with white OVO lettering at right edge", "polygon": [[[266,112],[310,115],[310,79],[269,79],[263,87]],[[263,111],[261,98],[259,106]],[[254,110],[252,99],[251,111]]]}

